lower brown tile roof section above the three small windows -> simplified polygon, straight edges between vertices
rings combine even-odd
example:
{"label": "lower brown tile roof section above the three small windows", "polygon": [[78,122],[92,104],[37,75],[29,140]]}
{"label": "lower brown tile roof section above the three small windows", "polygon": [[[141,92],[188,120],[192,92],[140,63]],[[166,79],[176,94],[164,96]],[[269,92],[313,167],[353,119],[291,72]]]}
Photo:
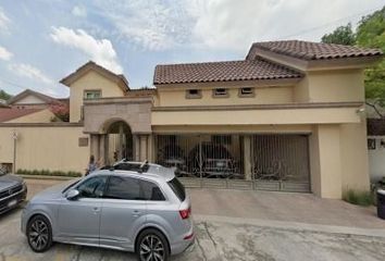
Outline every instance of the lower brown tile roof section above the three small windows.
{"label": "lower brown tile roof section above the three small windows", "polygon": [[300,78],[302,74],[262,59],[157,65],[153,84]]}

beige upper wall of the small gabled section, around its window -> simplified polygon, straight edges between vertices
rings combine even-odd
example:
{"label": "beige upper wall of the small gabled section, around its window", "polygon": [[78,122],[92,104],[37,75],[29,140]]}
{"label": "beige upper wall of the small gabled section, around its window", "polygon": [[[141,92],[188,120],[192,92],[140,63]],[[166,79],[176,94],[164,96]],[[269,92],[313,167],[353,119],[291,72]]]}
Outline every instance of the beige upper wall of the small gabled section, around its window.
{"label": "beige upper wall of the small gabled section, around its window", "polygon": [[82,120],[82,107],[85,90],[101,90],[102,98],[123,97],[124,92],[119,85],[107,77],[89,71],[70,87],[70,122]]}

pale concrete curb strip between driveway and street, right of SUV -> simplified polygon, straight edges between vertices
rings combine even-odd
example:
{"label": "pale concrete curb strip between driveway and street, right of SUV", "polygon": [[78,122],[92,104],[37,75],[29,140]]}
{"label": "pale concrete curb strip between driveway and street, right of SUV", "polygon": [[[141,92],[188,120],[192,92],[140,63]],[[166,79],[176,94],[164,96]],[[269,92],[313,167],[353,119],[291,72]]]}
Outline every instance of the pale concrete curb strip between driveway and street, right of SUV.
{"label": "pale concrete curb strip between driveway and street, right of SUV", "polygon": [[307,231],[307,232],[385,238],[385,228],[361,228],[361,227],[351,227],[351,226],[321,225],[321,224],[308,224],[308,223],[299,223],[299,222],[285,222],[285,221],[271,221],[271,220],[228,217],[228,216],[220,216],[220,215],[200,215],[200,214],[192,215],[192,219],[195,221],[221,222],[221,223],[231,223],[231,224],[239,224],[239,225],[248,224],[248,225],[290,229],[290,231],[302,231],[302,232]]}

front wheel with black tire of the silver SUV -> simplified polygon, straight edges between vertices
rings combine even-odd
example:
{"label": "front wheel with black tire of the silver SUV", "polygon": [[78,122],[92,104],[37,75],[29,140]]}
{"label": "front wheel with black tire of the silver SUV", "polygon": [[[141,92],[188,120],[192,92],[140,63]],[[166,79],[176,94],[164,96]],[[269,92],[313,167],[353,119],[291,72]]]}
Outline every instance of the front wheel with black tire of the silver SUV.
{"label": "front wheel with black tire of the silver SUV", "polygon": [[27,225],[27,240],[34,252],[47,251],[52,246],[52,228],[44,215],[35,215]]}

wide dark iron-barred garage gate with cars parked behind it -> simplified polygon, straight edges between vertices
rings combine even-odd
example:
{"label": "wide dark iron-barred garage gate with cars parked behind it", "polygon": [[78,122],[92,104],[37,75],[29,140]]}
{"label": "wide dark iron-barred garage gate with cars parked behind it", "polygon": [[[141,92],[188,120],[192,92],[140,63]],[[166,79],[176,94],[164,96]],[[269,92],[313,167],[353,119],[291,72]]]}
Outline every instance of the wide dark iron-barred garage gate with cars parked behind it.
{"label": "wide dark iron-barred garage gate with cars parked behind it", "polygon": [[310,191],[308,135],[157,135],[187,187]]}

